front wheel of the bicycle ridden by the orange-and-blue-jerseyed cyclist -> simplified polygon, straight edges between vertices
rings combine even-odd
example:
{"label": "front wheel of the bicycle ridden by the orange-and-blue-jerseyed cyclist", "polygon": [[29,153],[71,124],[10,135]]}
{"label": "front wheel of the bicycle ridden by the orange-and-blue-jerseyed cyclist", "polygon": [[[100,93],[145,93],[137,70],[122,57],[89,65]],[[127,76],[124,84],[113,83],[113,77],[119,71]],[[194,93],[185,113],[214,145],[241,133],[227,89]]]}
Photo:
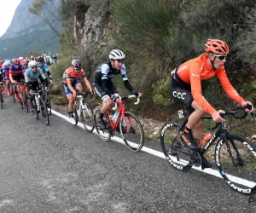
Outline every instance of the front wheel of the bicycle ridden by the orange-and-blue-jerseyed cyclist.
{"label": "front wheel of the bicycle ridden by the orange-and-blue-jerseyed cyclist", "polygon": [[93,112],[90,104],[86,101],[83,101],[80,118],[81,122],[84,124],[84,129],[88,132],[92,132],[94,130]]}

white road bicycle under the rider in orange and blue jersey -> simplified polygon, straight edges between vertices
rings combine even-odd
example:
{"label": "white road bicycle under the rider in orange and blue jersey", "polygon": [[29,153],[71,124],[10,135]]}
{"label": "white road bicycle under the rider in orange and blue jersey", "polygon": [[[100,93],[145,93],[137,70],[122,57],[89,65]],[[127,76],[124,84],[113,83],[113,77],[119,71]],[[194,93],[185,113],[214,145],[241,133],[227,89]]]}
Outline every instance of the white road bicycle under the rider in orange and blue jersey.
{"label": "white road bicycle under the rider in orange and blue jersey", "polygon": [[77,125],[80,120],[84,124],[84,129],[88,132],[92,132],[94,130],[93,111],[90,103],[86,100],[88,95],[90,95],[90,98],[93,97],[90,91],[77,91],[77,95],[73,101],[73,115],[75,119],[74,125]]}

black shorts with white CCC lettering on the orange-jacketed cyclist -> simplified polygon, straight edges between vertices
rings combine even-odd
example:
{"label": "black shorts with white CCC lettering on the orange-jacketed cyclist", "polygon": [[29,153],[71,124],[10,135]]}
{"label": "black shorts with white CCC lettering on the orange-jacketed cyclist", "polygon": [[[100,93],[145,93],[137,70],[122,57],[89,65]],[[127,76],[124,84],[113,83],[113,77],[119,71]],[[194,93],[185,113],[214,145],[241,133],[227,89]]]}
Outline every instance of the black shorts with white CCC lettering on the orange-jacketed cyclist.
{"label": "black shorts with white CCC lettering on the orange-jacketed cyclist", "polygon": [[191,106],[194,98],[191,94],[190,84],[183,83],[182,80],[177,77],[176,73],[172,75],[169,91],[171,98],[173,97],[175,100],[182,102],[188,107],[189,114],[195,111]]}

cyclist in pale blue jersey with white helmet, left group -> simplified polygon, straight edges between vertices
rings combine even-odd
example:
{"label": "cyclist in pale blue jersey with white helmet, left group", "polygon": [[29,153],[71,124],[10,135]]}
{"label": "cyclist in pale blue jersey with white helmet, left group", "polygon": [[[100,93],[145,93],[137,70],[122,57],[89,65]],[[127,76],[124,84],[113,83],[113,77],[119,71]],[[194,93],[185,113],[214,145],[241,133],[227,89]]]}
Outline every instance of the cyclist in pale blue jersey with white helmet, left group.
{"label": "cyclist in pale blue jersey with white helmet, left group", "polygon": [[38,62],[35,60],[31,60],[28,63],[29,68],[24,73],[26,87],[29,90],[29,102],[30,102],[30,111],[34,111],[34,106],[32,104],[32,93],[33,90],[37,90],[39,88],[39,83],[41,77],[45,83],[45,90],[48,91],[48,80],[44,75],[44,72],[38,69]]}

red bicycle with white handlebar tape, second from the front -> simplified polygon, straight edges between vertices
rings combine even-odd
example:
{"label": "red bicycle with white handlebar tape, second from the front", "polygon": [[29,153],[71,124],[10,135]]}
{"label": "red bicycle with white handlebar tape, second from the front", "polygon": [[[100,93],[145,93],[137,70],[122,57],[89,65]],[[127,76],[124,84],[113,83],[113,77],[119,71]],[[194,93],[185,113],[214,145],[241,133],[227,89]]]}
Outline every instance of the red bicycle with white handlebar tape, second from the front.
{"label": "red bicycle with white handlebar tape, second from the front", "polygon": [[[110,112],[110,109],[108,109],[108,111],[103,116],[103,119],[107,126],[106,130],[102,130],[100,128],[100,124],[97,120],[101,113],[102,106],[98,106],[95,108],[94,122],[97,134],[100,136],[102,141],[109,141],[110,138],[114,135],[114,132],[118,130],[119,133],[122,135],[126,147],[128,147],[132,152],[139,152],[144,145],[143,125],[134,114],[132,114],[131,112],[126,112],[124,103],[125,100],[134,97],[137,98],[136,95],[119,97],[119,114],[114,121],[112,119],[112,113]],[[137,105],[139,101],[140,99],[137,98],[137,102],[135,102],[134,104]],[[113,110],[115,110],[116,108],[117,103],[115,103],[115,107],[113,107]]]}

